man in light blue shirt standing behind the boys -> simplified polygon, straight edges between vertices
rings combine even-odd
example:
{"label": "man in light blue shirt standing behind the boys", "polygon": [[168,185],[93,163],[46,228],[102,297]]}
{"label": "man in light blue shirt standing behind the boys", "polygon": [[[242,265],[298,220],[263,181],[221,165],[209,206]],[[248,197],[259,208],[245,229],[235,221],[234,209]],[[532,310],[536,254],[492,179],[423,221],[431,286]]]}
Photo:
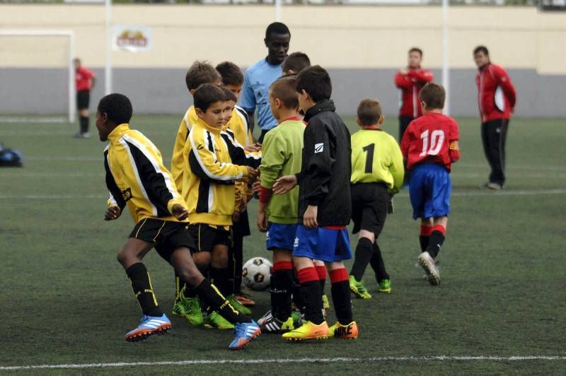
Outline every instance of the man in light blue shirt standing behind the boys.
{"label": "man in light blue shirt standing behind the boys", "polygon": [[240,102],[241,107],[248,112],[252,126],[254,112],[256,108],[258,110],[258,125],[261,129],[259,143],[263,142],[267,131],[277,125],[270,110],[269,88],[282,75],[281,65],[289,51],[291,32],[284,23],[274,22],[267,26],[263,41],[267,47],[267,57],[246,70]]}

